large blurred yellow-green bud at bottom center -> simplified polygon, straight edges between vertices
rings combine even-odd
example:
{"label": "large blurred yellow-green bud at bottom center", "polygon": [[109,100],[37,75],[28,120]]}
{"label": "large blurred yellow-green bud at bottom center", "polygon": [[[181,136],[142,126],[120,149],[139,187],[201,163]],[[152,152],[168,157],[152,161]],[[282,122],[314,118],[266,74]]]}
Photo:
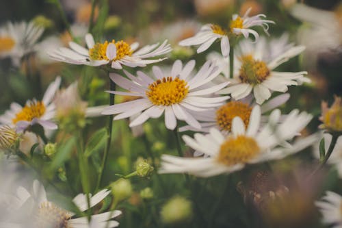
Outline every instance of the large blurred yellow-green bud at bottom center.
{"label": "large blurred yellow-green bud at bottom center", "polygon": [[173,197],[161,207],[163,223],[181,223],[192,218],[192,203],[184,197]]}

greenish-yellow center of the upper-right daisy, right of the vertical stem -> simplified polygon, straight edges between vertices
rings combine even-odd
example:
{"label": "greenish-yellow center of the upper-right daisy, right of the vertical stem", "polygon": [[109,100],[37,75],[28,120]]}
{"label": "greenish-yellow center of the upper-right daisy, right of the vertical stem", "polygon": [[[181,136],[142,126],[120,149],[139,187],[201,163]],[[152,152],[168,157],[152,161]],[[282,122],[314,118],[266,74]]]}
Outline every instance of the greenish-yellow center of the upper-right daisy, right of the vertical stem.
{"label": "greenish-yellow center of the upper-right daisy, right of the vertical stem", "polygon": [[261,84],[269,76],[269,68],[263,61],[254,60],[252,55],[241,57],[239,79],[243,83],[252,85]]}

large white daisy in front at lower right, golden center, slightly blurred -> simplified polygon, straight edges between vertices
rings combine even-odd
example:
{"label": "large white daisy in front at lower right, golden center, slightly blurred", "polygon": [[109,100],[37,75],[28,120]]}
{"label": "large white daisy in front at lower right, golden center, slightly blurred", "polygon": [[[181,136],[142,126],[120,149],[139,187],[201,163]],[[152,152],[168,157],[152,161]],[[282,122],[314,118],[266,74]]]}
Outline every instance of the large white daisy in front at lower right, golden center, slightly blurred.
{"label": "large white daisy in front at lower right, golden center, slightly blurred", "polygon": [[232,132],[228,136],[215,128],[207,135],[197,133],[194,138],[183,136],[189,147],[204,153],[205,157],[162,155],[159,173],[189,173],[198,177],[232,173],[241,170],[246,164],[281,159],[317,140],[317,136],[309,136],[294,144],[286,142],[308,124],[312,118],[310,114],[293,110],[285,121],[276,125],[279,118],[280,111],[274,110],[269,116],[269,123],[259,131],[261,110],[255,106],[247,129],[237,116],[233,119]]}

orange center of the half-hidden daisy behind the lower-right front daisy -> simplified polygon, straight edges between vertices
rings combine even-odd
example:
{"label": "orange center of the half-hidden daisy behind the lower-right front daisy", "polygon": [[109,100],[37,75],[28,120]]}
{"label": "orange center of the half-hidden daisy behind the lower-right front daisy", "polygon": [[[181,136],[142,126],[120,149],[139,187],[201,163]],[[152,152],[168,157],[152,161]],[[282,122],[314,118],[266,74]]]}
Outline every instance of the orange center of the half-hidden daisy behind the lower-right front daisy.
{"label": "orange center of the half-hidden daisy behind the lower-right front daisy", "polygon": [[224,131],[231,131],[233,118],[239,116],[244,124],[248,126],[250,122],[250,112],[252,107],[240,101],[231,101],[222,105],[216,111],[216,123],[220,129]]}

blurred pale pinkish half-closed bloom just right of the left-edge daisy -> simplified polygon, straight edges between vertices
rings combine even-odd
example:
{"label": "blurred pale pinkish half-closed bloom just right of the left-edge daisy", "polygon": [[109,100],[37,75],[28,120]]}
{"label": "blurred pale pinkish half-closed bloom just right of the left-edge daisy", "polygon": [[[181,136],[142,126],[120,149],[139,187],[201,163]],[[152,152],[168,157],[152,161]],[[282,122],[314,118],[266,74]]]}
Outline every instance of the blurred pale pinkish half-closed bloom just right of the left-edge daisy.
{"label": "blurred pale pinkish half-closed bloom just right of the left-edge daisy", "polygon": [[86,125],[87,103],[79,97],[77,82],[57,92],[54,103],[61,129],[80,129]]}

